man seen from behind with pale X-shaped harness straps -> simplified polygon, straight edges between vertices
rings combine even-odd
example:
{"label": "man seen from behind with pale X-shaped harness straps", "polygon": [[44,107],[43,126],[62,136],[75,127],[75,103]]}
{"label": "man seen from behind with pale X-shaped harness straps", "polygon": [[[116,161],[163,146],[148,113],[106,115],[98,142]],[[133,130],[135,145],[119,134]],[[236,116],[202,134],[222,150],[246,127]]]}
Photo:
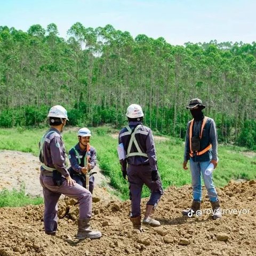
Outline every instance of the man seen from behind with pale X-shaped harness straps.
{"label": "man seen from behind with pale X-shaped harness straps", "polygon": [[[119,144],[123,143],[125,159],[121,159],[123,177],[126,175],[130,184],[131,218],[133,228],[141,228],[141,190],[145,184],[151,191],[146,205],[145,225],[160,226],[153,218],[156,206],[163,195],[162,182],[157,171],[156,150],[152,131],[142,125],[143,112],[139,105],[132,104],[127,108],[126,116],[129,125],[119,133]],[[128,164],[128,166],[127,166]],[[127,169],[126,169],[127,167]]]}

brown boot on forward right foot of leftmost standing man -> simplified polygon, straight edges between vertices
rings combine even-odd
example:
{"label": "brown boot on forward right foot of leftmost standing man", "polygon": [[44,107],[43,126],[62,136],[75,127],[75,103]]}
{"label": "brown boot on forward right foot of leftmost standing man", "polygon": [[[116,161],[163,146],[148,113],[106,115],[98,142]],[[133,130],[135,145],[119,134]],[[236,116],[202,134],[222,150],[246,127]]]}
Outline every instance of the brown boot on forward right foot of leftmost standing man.
{"label": "brown boot on forward right foot of leftmost standing man", "polygon": [[84,238],[100,238],[101,233],[98,230],[92,230],[90,226],[90,219],[79,219],[78,220],[78,231],[76,239]]}

